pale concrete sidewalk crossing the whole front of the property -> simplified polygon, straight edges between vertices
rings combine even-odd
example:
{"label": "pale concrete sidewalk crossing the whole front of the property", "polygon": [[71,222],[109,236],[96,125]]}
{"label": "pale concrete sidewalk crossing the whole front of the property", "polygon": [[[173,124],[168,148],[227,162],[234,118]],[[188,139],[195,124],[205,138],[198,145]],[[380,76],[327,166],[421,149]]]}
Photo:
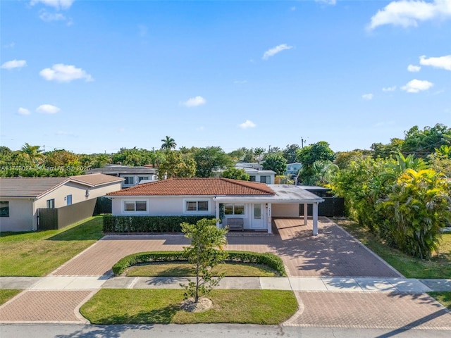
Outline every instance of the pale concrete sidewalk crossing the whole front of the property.
{"label": "pale concrete sidewalk crossing the whole front of the property", "polygon": [[[0,277],[1,289],[95,290],[182,289],[188,277],[48,276]],[[224,277],[218,289],[275,289],[302,292],[451,292],[451,280],[393,277]]]}

